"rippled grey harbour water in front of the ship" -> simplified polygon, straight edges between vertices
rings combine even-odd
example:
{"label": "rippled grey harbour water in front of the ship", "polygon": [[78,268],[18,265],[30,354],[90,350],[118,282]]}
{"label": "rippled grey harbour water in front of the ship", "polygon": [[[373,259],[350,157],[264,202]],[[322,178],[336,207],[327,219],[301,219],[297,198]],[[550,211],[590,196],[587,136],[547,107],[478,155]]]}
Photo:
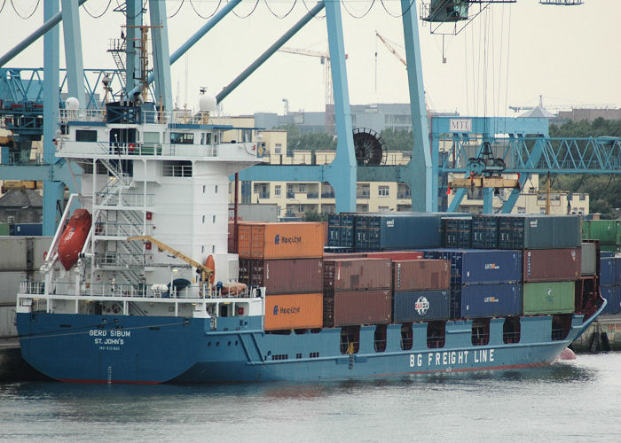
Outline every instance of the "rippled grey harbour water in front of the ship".
{"label": "rippled grey harbour water in front of the ship", "polygon": [[0,441],[619,441],[621,353],[252,385],[0,385]]}

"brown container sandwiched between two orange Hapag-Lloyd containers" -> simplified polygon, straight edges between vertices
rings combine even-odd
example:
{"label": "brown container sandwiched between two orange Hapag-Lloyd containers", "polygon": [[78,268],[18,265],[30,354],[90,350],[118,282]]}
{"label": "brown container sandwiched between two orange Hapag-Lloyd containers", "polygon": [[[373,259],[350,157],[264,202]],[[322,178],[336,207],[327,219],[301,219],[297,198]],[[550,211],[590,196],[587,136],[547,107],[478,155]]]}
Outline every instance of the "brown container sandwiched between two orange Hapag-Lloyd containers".
{"label": "brown container sandwiched between two orange Hapag-Lloyd containers", "polygon": [[321,259],[240,259],[240,282],[264,286],[268,294],[321,292]]}

